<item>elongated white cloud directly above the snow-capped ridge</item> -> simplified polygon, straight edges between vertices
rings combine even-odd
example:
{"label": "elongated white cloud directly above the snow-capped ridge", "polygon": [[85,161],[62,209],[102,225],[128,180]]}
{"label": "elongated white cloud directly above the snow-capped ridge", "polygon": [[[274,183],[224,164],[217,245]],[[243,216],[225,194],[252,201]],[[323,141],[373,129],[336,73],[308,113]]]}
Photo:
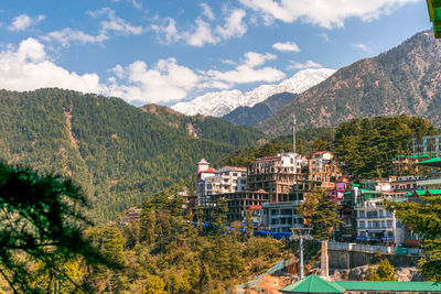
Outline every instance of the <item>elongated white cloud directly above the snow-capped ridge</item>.
{"label": "elongated white cloud directly above the snow-capped ridge", "polygon": [[[277,81],[284,77],[284,74],[273,67],[256,68],[262,65],[266,61],[275,59],[272,54],[259,54],[256,52],[248,52],[245,54],[245,59],[233,70],[219,72],[207,70],[204,72],[204,79],[215,85],[214,81],[220,85],[229,85],[233,87],[236,84],[248,84],[256,81]],[[224,87],[225,88],[225,87]]]}

